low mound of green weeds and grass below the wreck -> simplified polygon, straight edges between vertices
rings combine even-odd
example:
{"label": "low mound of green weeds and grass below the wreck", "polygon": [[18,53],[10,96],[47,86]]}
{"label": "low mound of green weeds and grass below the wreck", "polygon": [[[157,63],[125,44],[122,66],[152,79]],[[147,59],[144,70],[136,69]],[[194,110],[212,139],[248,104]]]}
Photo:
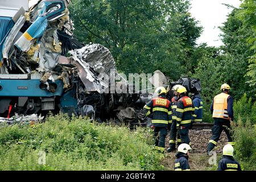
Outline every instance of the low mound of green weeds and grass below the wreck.
{"label": "low mound of green weeds and grass below the wreck", "polygon": [[[154,150],[151,132],[63,114],[34,127],[2,126],[0,170],[160,170],[163,154]],[[40,151],[45,165],[38,163]]]}

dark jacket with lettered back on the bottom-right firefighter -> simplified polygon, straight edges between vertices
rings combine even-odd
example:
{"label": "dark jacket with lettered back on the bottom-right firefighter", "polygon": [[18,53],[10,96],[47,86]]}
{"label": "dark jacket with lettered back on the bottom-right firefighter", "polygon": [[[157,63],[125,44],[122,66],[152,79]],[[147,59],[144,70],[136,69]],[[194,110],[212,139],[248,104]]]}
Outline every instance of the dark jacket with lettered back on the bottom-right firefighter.
{"label": "dark jacket with lettered back on the bottom-right firefighter", "polygon": [[242,171],[242,169],[233,156],[223,155],[220,162],[218,162],[218,171]]}

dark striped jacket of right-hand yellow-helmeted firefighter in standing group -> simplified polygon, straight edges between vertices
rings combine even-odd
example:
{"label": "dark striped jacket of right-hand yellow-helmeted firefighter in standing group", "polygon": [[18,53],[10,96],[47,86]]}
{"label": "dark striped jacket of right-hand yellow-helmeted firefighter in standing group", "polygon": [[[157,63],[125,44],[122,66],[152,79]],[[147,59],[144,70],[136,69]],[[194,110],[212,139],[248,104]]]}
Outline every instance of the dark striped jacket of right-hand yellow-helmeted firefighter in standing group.
{"label": "dark striped jacket of right-hand yellow-helmeted firefighter in standing group", "polygon": [[191,123],[192,118],[192,101],[191,98],[187,96],[181,97],[177,101],[177,109],[176,109],[176,121],[177,126],[180,124]]}

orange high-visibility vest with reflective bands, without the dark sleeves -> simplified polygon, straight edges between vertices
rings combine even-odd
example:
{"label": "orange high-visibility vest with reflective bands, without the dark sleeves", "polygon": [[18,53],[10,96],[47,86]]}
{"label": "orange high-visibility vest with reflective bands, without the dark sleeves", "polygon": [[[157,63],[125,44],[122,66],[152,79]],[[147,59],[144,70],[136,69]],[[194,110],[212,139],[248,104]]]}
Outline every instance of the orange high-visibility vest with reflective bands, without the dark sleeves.
{"label": "orange high-visibility vest with reflective bands, without the dark sleeves", "polygon": [[229,94],[220,93],[213,100],[213,118],[229,119],[228,113],[228,97]]}

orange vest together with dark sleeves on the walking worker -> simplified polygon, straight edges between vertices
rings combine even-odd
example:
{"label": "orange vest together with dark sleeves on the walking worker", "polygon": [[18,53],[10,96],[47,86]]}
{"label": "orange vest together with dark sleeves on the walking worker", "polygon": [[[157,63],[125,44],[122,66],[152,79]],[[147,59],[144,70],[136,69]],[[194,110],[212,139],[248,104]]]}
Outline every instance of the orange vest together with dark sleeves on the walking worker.
{"label": "orange vest together with dark sleeves on the walking worker", "polygon": [[233,98],[224,92],[218,94],[214,97],[211,110],[213,118],[233,119]]}

